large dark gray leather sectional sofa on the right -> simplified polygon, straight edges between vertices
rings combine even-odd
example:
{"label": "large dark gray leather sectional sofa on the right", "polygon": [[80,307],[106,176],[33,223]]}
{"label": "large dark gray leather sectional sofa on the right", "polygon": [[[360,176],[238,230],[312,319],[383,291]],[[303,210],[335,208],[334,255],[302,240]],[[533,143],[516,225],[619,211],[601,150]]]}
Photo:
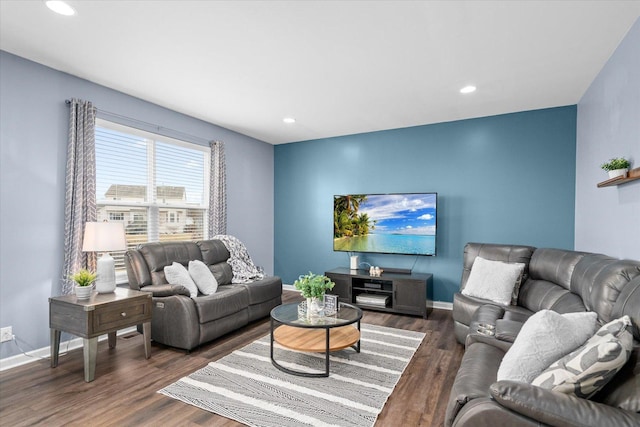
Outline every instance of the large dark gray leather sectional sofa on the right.
{"label": "large dark gray leather sectional sofa on the right", "polygon": [[[640,262],[605,255],[530,246],[469,243],[464,250],[461,291],[476,257],[520,262],[525,269],[517,305],[456,293],[453,318],[465,354],[446,414],[449,426],[640,426]],[[591,399],[523,382],[497,381],[497,372],[522,324],[534,313],[594,311],[602,325],[631,318],[629,361]],[[495,325],[495,336],[477,333]]]}

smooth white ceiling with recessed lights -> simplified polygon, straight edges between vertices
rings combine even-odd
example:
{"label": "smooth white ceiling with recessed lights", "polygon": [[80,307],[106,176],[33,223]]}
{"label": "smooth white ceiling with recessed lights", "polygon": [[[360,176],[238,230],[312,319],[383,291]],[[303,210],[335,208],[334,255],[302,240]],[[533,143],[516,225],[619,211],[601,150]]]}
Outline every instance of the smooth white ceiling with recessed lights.
{"label": "smooth white ceiling with recessed lights", "polygon": [[0,49],[272,144],[576,104],[640,16],[639,1],[68,3],[76,16],[0,0]]}

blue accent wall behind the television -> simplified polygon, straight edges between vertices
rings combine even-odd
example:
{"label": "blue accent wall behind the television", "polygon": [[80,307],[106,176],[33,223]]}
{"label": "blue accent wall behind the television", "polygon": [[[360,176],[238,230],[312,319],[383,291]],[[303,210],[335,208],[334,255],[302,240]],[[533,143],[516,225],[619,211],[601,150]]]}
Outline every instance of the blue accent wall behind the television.
{"label": "blue accent wall behind the television", "polygon": [[575,159],[575,106],[277,145],[275,273],[291,284],[349,266],[333,195],[433,191],[436,257],[359,255],[433,273],[429,299],[451,302],[467,242],[573,249]]}

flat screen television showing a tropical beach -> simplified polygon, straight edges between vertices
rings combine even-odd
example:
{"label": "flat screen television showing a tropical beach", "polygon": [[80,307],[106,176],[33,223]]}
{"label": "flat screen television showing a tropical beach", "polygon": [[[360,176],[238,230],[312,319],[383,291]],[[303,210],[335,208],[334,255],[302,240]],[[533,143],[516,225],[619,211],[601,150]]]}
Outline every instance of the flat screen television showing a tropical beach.
{"label": "flat screen television showing a tropical beach", "polygon": [[333,196],[333,250],[436,255],[437,193]]}

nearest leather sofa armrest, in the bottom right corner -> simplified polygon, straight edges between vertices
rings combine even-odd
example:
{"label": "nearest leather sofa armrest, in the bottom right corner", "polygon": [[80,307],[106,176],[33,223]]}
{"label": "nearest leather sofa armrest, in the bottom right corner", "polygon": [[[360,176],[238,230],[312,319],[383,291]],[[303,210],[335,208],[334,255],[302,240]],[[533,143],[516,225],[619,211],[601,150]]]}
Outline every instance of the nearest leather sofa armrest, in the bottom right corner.
{"label": "nearest leather sofa armrest, in the bottom right corner", "polygon": [[557,427],[623,427],[640,425],[640,415],[531,384],[498,381],[489,388],[505,408]]}

